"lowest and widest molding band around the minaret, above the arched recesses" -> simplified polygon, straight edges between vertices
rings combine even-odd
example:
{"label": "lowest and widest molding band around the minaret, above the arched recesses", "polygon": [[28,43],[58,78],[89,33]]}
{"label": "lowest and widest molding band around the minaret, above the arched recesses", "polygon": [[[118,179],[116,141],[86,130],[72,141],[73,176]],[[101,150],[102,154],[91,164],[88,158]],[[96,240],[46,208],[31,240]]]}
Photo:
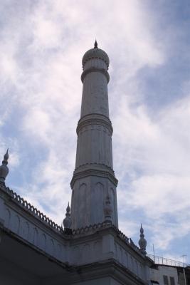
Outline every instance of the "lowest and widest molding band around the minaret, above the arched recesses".
{"label": "lowest and widest molding band around the minaret, above the arched recesses", "polygon": [[86,164],[78,167],[73,173],[73,178],[70,182],[70,187],[73,189],[76,180],[88,176],[107,178],[115,185],[115,187],[117,187],[118,180],[117,178],[115,178],[114,171],[110,167],[106,167],[105,165],[104,167],[102,166],[103,165],[98,164]]}

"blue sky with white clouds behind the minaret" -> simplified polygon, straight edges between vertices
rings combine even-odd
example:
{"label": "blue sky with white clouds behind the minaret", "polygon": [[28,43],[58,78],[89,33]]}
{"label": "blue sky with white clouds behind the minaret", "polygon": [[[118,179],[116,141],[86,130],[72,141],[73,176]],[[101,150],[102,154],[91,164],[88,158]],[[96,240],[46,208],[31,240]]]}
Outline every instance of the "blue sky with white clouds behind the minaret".
{"label": "blue sky with white clouds behind the minaret", "polygon": [[110,57],[119,228],[190,264],[190,3],[0,3],[0,157],[6,185],[58,224],[70,202],[82,57]]}

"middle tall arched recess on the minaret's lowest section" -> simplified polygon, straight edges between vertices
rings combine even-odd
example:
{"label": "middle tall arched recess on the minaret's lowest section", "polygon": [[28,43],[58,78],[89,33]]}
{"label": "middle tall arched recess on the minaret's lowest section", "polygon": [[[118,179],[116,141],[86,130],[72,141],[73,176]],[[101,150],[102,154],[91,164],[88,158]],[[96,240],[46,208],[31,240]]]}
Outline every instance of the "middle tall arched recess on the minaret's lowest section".
{"label": "middle tall arched recess on the minaret's lowest section", "polygon": [[[98,207],[98,211],[97,211]],[[91,224],[98,224],[104,221],[104,185],[97,182],[91,190]]]}

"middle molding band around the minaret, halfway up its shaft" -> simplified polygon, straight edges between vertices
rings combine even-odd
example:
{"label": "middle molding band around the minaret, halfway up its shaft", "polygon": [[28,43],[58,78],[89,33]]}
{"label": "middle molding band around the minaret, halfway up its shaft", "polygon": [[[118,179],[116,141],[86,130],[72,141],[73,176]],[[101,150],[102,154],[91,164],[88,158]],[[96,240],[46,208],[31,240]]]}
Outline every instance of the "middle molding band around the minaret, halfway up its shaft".
{"label": "middle molding band around the minaret, halfway up its shaft", "polygon": [[110,131],[110,135],[113,133],[112,123],[109,118],[100,114],[90,114],[84,116],[78,121],[78,126],[76,129],[77,135],[82,128],[88,125],[102,125],[102,127],[105,127]]}

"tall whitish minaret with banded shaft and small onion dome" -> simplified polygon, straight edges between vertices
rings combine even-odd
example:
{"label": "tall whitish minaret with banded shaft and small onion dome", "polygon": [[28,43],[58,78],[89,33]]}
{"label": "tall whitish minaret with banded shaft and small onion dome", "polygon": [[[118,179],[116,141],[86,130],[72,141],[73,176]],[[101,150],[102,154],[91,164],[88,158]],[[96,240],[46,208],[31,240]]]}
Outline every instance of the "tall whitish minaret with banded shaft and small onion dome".
{"label": "tall whitish minaret with banded shaft and small onion dome", "polygon": [[83,56],[83,98],[77,127],[78,143],[72,188],[72,228],[105,221],[107,197],[110,221],[118,227],[117,179],[112,169],[112,123],[109,118],[105,51],[91,48]]}

